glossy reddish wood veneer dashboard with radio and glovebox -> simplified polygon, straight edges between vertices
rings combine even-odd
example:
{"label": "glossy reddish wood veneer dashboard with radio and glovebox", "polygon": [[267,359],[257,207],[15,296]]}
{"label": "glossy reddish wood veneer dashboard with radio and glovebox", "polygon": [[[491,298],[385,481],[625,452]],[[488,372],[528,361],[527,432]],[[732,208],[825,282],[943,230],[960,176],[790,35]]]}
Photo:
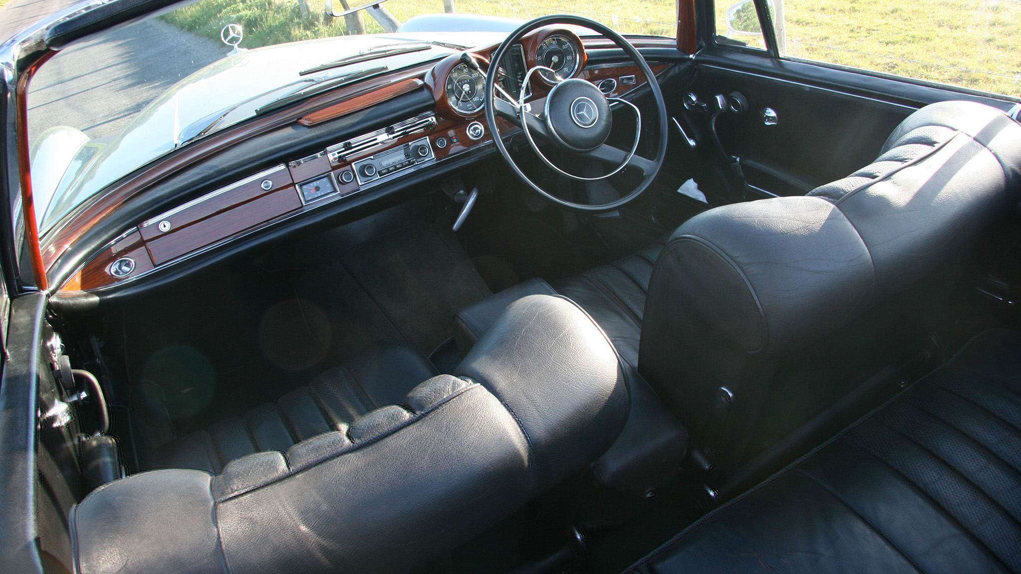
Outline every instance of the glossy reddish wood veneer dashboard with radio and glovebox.
{"label": "glossy reddish wood veneer dashboard with radio and glovebox", "polygon": [[[558,28],[540,29],[523,38],[519,57],[524,58],[527,66],[535,65],[540,45],[553,36],[567,39],[577,49],[579,61],[573,76],[592,82],[607,96],[621,96],[647,81],[631,62],[586,65],[587,55],[581,39]],[[477,49],[472,54],[486,69],[496,48]],[[284,219],[343,200],[351,194],[491,143],[484,109],[466,113],[448,102],[446,80],[460,63],[459,57],[460,54],[453,54],[428,69],[375,83],[351,92],[349,97],[328,101],[313,109],[299,106],[301,114],[290,121],[311,127],[422,86],[432,92],[436,101],[432,111],[339,141],[313,154],[295,157],[286,164],[253,174],[140,222],[93,255],[64,282],[60,292],[99,290],[139,278]],[[653,74],[659,74],[667,65],[653,63],[650,67]],[[528,101],[533,106],[541,105],[551,86],[540,75],[533,75]],[[503,135],[517,130],[503,119],[498,119],[498,124]]]}

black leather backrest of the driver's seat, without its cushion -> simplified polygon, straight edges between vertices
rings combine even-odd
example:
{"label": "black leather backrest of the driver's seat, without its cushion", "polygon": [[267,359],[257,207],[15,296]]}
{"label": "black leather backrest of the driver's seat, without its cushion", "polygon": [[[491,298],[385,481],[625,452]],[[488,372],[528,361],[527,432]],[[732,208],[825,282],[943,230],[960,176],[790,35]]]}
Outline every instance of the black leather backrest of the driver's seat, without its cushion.
{"label": "black leather backrest of the driver's seat, without its cushion", "polygon": [[777,364],[968,253],[1017,203],[1019,171],[1021,126],[941,102],[845,179],[692,218],[655,264],[639,371],[716,472],[733,470],[757,453],[764,421],[784,416]]}

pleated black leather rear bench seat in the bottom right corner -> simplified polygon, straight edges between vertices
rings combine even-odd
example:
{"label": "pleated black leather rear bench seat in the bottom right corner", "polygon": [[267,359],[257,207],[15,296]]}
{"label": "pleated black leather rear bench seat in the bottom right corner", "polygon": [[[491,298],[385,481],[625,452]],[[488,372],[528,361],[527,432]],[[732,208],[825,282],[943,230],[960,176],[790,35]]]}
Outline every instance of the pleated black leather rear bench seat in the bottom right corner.
{"label": "pleated black leather rear bench seat in the bottom right corner", "polygon": [[631,571],[1021,572],[1021,334],[979,335]]}

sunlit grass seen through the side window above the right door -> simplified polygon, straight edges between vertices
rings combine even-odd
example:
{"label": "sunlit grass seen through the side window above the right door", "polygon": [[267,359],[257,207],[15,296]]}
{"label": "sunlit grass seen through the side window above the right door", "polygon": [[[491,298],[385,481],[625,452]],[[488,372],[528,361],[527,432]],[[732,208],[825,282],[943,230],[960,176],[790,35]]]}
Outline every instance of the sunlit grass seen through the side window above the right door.
{"label": "sunlit grass seen through the side window above the right door", "polygon": [[[717,30],[725,31],[717,8]],[[1021,97],[1021,3],[787,0],[794,57]],[[751,45],[761,46],[760,39]]]}

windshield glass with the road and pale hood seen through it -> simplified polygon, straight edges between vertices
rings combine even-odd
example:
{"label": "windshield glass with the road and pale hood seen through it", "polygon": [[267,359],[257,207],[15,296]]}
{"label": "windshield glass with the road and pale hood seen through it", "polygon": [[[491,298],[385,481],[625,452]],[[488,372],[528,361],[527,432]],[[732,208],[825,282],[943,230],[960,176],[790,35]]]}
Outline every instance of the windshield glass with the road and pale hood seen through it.
{"label": "windshield glass with the road and pale hood seen through it", "polygon": [[[571,13],[623,34],[676,31],[674,0],[390,0],[331,15],[360,5],[201,0],[62,50],[29,87],[41,233],[179,147],[314,93],[498,43],[527,19]],[[480,17],[435,32],[448,14]]]}

